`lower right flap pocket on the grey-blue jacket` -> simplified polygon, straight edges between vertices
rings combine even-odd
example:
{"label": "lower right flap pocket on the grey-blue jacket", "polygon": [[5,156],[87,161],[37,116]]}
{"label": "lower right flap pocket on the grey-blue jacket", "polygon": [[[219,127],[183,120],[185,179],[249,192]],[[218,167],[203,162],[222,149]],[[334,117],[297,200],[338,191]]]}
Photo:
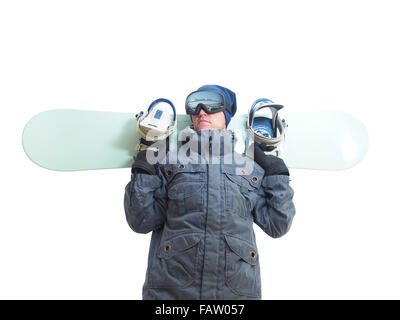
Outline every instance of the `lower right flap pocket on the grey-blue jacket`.
{"label": "lower right flap pocket on the grey-blue jacket", "polygon": [[235,294],[261,298],[257,247],[229,235],[225,235],[225,241],[225,280],[227,286]]}

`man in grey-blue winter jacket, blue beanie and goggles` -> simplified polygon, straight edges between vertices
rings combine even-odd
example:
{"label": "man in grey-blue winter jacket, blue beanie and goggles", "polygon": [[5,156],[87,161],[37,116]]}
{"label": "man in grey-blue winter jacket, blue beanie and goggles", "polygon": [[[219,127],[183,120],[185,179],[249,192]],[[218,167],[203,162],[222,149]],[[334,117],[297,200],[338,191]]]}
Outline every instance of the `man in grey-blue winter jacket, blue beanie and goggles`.
{"label": "man in grey-blue winter jacket, blue beanie and goggles", "polygon": [[274,238],[289,230],[289,171],[258,145],[254,161],[235,153],[229,89],[199,88],[186,112],[185,152],[155,165],[139,152],[125,189],[130,227],[152,231],[143,299],[261,299],[253,222]]}

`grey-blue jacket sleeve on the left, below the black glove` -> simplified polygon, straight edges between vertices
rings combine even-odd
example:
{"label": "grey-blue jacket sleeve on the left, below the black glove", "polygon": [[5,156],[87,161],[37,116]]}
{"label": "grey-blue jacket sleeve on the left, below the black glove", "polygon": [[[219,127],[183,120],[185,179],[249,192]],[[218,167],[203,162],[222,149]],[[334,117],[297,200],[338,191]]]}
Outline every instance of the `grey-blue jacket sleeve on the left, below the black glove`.
{"label": "grey-blue jacket sleeve on the left, below the black glove", "polygon": [[125,187],[124,207],[128,224],[135,232],[148,233],[164,224],[167,191],[159,169],[156,175],[132,173]]}

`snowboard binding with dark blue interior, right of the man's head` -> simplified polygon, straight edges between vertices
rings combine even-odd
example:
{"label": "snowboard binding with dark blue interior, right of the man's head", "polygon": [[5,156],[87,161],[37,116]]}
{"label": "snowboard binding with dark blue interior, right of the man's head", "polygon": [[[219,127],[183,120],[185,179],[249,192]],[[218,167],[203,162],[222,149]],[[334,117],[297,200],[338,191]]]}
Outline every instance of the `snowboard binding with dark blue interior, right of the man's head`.
{"label": "snowboard binding with dark blue interior, right of the man's head", "polygon": [[[255,113],[261,109],[268,108],[271,116],[255,116]],[[273,103],[269,99],[257,99],[249,109],[247,120],[247,136],[246,146],[250,146],[253,140],[258,143],[266,154],[275,156],[280,155],[280,144],[285,139],[287,124],[285,119],[278,116],[278,111],[283,105]]]}

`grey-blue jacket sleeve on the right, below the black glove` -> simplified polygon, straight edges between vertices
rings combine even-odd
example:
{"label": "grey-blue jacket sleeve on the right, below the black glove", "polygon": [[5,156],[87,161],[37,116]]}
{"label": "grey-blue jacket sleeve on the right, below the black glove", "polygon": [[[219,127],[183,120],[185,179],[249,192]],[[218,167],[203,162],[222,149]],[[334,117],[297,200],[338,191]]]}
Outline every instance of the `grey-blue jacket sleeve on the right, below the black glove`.
{"label": "grey-blue jacket sleeve on the right, below the black glove", "polygon": [[295,215],[289,176],[265,176],[253,209],[254,222],[269,236],[278,238],[289,231]]}

